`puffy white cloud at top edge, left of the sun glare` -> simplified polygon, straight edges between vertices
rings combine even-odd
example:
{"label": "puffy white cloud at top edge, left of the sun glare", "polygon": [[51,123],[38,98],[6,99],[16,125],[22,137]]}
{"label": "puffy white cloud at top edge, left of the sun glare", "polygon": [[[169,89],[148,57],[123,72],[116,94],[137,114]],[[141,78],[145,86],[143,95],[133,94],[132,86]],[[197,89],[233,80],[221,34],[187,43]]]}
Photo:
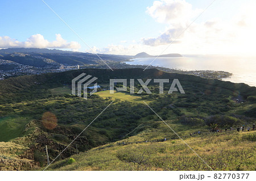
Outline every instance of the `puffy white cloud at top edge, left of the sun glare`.
{"label": "puffy white cloud at top edge, left of the sun glare", "polygon": [[[154,1],[151,7],[147,7],[146,12],[157,22],[167,24],[168,28],[158,37],[143,38],[142,43],[153,47],[180,43],[179,39],[184,36],[182,33],[184,28],[200,11],[199,9],[193,10],[192,5],[184,0]],[[179,39],[176,39],[177,37]]]}

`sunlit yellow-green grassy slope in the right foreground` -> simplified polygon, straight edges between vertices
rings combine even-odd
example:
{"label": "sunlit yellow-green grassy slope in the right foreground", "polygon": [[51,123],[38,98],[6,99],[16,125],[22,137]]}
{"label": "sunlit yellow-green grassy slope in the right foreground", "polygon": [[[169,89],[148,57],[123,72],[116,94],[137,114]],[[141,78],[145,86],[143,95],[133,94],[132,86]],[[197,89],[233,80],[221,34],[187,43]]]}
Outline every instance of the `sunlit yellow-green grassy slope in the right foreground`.
{"label": "sunlit yellow-green grassy slope in the right foreground", "polygon": [[[213,170],[255,170],[256,132],[213,133],[185,139],[185,142]],[[148,142],[92,149],[53,163],[49,170],[209,170],[181,140]]]}

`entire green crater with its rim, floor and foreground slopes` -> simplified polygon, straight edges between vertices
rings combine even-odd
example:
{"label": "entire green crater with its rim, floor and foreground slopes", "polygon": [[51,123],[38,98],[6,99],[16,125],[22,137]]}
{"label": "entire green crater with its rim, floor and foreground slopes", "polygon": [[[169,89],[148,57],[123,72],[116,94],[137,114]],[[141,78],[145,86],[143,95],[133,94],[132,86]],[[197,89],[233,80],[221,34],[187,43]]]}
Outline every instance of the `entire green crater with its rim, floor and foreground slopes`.
{"label": "entire green crater with its rim, floor and foreground slopes", "polygon": [[[100,91],[88,96],[87,100],[71,95],[71,80],[81,73],[97,77],[97,83],[101,85]],[[135,81],[135,94],[130,95],[128,83],[126,92],[109,95],[110,78],[141,78],[144,81],[147,78],[168,78],[171,81],[164,83],[164,94],[159,94],[159,85],[153,81],[148,85],[152,94],[136,94],[142,87]],[[179,79],[185,94],[167,94],[172,79],[175,78]],[[107,91],[102,91],[104,89]],[[255,123],[256,87],[166,73],[157,69],[80,69],[0,81],[0,141],[23,150],[17,152],[15,159],[13,154],[6,157],[7,153],[0,154],[0,158],[8,163],[14,162],[13,165],[18,165],[16,170],[44,168],[47,164],[45,146],[48,147],[52,161],[112,100],[113,104],[60,155],[57,159],[59,162],[49,169],[207,170],[208,167],[197,160],[191,150],[177,139],[144,102],[195,147],[215,170],[255,168],[255,157],[243,157],[245,154],[255,154],[255,133],[225,132],[225,128],[242,125],[251,127]],[[222,133],[216,133],[217,129],[222,130]],[[204,134],[188,137],[198,131]],[[164,138],[167,141],[96,149],[98,146],[119,142]],[[236,148],[241,149],[236,152]],[[224,162],[219,163],[221,154]],[[239,157],[233,162],[236,155]],[[65,158],[69,157],[75,158],[76,163],[65,165]],[[138,163],[141,157],[143,163]],[[176,160],[178,158],[179,161]],[[172,159],[177,161],[177,165]],[[184,165],[187,159],[189,161]],[[198,164],[192,166],[192,161]],[[0,166],[0,170],[15,168],[10,165]]]}

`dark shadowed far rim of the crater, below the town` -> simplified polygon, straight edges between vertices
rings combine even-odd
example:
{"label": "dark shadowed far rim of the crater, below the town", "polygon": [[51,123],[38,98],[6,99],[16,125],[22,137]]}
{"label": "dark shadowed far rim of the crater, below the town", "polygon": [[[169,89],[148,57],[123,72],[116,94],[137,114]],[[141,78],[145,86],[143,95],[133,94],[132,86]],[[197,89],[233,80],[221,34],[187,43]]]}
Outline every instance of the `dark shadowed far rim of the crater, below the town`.
{"label": "dark shadowed far rim of the crater, below the town", "polygon": [[194,75],[166,73],[157,69],[79,69],[61,73],[47,73],[41,75],[24,75],[0,81],[0,94],[15,93],[36,85],[55,85],[58,83],[71,84],[71,80],[81,73],[97,77],[98,83],[109,83],[110,78],[177,78],[182,82],[201,83],[205,86],[221,87],[231,91],[239,91],[243,96],[256,95],[256,87],[250,87],[244,83],[223,82],[216,79],[204,79]]}

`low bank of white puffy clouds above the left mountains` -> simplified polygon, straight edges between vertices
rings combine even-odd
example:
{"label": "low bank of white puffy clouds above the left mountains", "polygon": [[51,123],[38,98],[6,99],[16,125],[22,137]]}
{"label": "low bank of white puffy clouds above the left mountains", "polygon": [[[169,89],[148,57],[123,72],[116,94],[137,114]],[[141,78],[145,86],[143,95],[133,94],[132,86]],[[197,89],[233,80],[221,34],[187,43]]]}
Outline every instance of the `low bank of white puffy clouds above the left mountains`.
{"label": "low bank of white puffy clouds above the left mountains", "polygon": [[0,48],[61,48],[61,49],[79,49],[80,44],[76,41],[67,42],[60,34],[56,34],[55,41],[44,39],[43,35],[36,34],[30,36],[27,41],[18,41],[9,36],[0,36]]}

